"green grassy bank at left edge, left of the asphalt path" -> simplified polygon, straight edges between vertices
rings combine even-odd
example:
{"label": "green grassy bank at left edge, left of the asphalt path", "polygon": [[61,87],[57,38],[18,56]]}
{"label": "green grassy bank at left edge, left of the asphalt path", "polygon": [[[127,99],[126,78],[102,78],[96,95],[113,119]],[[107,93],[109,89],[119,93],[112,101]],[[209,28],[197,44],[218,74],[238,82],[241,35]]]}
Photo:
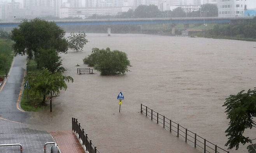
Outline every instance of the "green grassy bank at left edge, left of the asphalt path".
{"label": "green grassy bank at left edge, left of the asphalt path", "polygon": [[9,72],[13,60],[12,41],[0,38],[0,76]]}

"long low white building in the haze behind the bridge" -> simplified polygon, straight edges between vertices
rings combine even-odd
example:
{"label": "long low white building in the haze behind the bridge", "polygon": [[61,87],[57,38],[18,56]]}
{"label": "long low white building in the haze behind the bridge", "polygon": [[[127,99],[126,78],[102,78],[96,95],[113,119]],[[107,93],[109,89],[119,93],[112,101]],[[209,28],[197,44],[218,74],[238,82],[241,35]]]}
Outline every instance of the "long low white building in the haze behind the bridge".
{"label": "long low white building in the haze behind the bridge", "polygon": [[121,12],[127,12],[131,8],[132,7],[62,7],[60,8],[60,18],[81,17],[85,19],[93,14],[114,16]]}

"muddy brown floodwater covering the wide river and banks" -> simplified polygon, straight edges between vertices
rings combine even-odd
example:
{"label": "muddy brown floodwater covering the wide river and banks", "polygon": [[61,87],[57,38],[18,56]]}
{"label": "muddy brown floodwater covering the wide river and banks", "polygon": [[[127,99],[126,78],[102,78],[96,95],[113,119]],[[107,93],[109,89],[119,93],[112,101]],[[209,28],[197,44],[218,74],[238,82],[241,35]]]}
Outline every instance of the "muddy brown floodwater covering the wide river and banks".
{"label": "muddy brown floodwater covering the wide river and banks", "polygon": [[[228,120],[222,105],[230,94],[255,87],[255,42],[135,34],[88,34],[88,39],[83,52],[62,55],[74,83],[54,98],[53,113],[33,113],[28,121],[32,127],[71,130],[75,117],[103,153],[199,152],[141,115],[142,103],[225,148]],[[86,68],[82,59],[93,47],[126,52],[130,72],[78,75],[75,65]],[[125,97],[121,113],[120,91]],[[255,133],[250,130],[246,136]],[[231,152],[247,152],[246,146]]]}

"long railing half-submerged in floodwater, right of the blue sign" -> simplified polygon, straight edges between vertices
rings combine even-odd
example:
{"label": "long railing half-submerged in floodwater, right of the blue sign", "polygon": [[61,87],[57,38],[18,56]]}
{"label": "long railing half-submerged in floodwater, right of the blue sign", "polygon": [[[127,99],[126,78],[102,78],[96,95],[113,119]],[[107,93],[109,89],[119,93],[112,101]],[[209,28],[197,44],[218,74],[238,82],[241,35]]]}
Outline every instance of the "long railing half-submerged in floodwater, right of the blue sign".
{"label": "long railing half-submerged in floodwater, right of the blue sign", "polygon": [[145,114],[151,120],[155,120],[157,124],[162,124],[163,128],[170,132],[175,132],[177,137],[182,137],[186,143],[192,143],[195,148],[203,149],[204,153],[230,153],[143,104],[140,104],[140,113]]}

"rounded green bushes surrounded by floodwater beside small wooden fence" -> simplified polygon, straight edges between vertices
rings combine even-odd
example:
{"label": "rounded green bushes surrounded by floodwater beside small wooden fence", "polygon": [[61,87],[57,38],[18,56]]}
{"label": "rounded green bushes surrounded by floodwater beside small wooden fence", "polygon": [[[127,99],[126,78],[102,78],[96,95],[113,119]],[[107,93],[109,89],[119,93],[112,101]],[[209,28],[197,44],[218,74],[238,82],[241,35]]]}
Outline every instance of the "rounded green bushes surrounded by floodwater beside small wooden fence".
{"label": "rounded green bushes surrounded by floodwater beside small wooden fence", "polygon": [[130,61],[125,52],[119,50],[93,48],[92,54],[83,59],[84,64],[94,66],[101,75],[119,75],[128,72]]}

